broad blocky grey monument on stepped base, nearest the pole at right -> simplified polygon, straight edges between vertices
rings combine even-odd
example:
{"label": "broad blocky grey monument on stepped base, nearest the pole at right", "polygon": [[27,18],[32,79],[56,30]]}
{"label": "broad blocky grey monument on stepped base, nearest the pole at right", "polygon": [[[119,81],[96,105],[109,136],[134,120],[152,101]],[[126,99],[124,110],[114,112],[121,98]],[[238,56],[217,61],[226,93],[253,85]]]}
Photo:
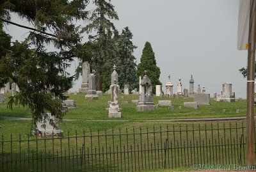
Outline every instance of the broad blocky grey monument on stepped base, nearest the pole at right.
{"label": "broad blocky grey monument on stepped base, nearest the pole at right", "polygon": [[232,92],[232,84],[225,82],[222,84],[220,102],[235,102],[235,93]]}

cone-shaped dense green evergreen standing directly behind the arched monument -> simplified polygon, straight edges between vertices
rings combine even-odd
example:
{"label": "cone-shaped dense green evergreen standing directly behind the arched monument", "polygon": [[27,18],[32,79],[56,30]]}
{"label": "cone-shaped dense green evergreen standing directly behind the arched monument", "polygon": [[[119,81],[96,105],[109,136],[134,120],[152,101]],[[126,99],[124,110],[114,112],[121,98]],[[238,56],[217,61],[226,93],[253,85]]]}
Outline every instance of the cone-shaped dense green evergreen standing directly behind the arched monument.
{"label": "cone-shaped dense green evergreen standing directly behind the arched monument", "polygon": [[162,84],[159,81],[161,72],[160,72],[160,68],[156,66],[155,53],[149,42],[145,43],[145,47],[143,48],[143,51],[142,51],[140,64],[138,64],[138,68],[137,68],[136,82],[139,81],[140,76],[141,78],[143,78],[145,70],[147,70],[147,75],[152,82],[153,93],[156,93],[156,85]]}

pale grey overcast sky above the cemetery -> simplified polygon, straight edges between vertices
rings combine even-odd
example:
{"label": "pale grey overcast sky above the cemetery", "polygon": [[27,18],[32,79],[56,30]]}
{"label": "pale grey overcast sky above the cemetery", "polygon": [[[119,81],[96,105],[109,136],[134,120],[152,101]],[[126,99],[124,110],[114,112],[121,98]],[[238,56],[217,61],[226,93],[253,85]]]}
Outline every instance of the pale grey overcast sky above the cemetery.
{"label": "pale grey overcast sky above the cemetery", "polygon": [[[145,42],[151,43],[163,87],[170,74],[173,92],[177,91],[179,77],[182,90],[189,88],[193,75],[194,91],[200,84],[212,97],[214,92],[220,93],[223,82],[230,82],[236,98],[246,98],[246,79],[238,71],[247,66],[247,51],[237,51],[239,0],[112,0],[111,3],[119,16],[115,22],[117,29],[122,32],[129,26],[133,33],[132,42],[138,46],[134,52],[137,64]],[[28,33],[13,26],[6,30],[18,40]],[[80,86],[81,79],[72,91]]]}

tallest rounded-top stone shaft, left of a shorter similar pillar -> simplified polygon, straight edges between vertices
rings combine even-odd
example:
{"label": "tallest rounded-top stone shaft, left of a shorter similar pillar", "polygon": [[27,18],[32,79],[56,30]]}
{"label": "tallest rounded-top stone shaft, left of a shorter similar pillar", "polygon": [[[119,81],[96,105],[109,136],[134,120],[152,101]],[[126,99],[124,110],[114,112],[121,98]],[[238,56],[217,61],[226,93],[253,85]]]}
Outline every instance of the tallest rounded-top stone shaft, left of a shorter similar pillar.
{"label": "tallest rounded-top stone shaft, left of a shorter similar pillar", "polygon": [[81,88],[79,88],[79,93],[86,93],[88,91],[89,86],[88,86],[88,75],[90,74],[90,63],[88,61],[85,61],[83,63],[83,70],[82,70],[82,84]]}

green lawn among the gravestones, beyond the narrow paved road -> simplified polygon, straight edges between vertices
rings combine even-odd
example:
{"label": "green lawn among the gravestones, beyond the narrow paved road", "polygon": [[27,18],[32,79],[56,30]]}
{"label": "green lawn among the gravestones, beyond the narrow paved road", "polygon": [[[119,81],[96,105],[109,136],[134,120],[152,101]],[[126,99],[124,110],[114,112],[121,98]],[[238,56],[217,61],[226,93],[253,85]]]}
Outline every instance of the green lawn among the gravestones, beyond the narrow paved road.
{"label": "green lawn among the gravestones, beyond the narrow paved road", "polygon": [[[156,111],[136,112],[136,104],[132,100],[139,98],[138,95],[119,95],[118,104],[122,108],[122,118],[114,119],[108,118],[107,107],[108,100],[111,95],[100,95],[99,100],[85,100],[83,93],[77,95],[67,95],[68,99],[75,100],[77,108],[68,109],[64,119],[70,120],[157,120],[157,119],[188,119],[188,118],[221,118],[221,117],[235,117],[246,116],[246,100],[240,99],[237,102],[216,102],[211,98],[211,105],[200,105],[197,110],[184,107],[183,102],[193,102],[193,98],[166,98],[166,97],[153,97],[154,104],[158,100],[172,100],[174,106],[173,112],[166,106],[159,106]],[[6,97],[6,99],[8,99]],[[6,100],[7,102],[8,100]],[[182,106],[179,109],[179,106]],[[223,113],[225,109],[225,113]],[[236,109],[240,109],[240,113],[236,113]],[[13,106],[10,110],[7,108],[7,103],[0,104],[0,116],[13,116],[31,118],[29,109],[22,106]]]}

